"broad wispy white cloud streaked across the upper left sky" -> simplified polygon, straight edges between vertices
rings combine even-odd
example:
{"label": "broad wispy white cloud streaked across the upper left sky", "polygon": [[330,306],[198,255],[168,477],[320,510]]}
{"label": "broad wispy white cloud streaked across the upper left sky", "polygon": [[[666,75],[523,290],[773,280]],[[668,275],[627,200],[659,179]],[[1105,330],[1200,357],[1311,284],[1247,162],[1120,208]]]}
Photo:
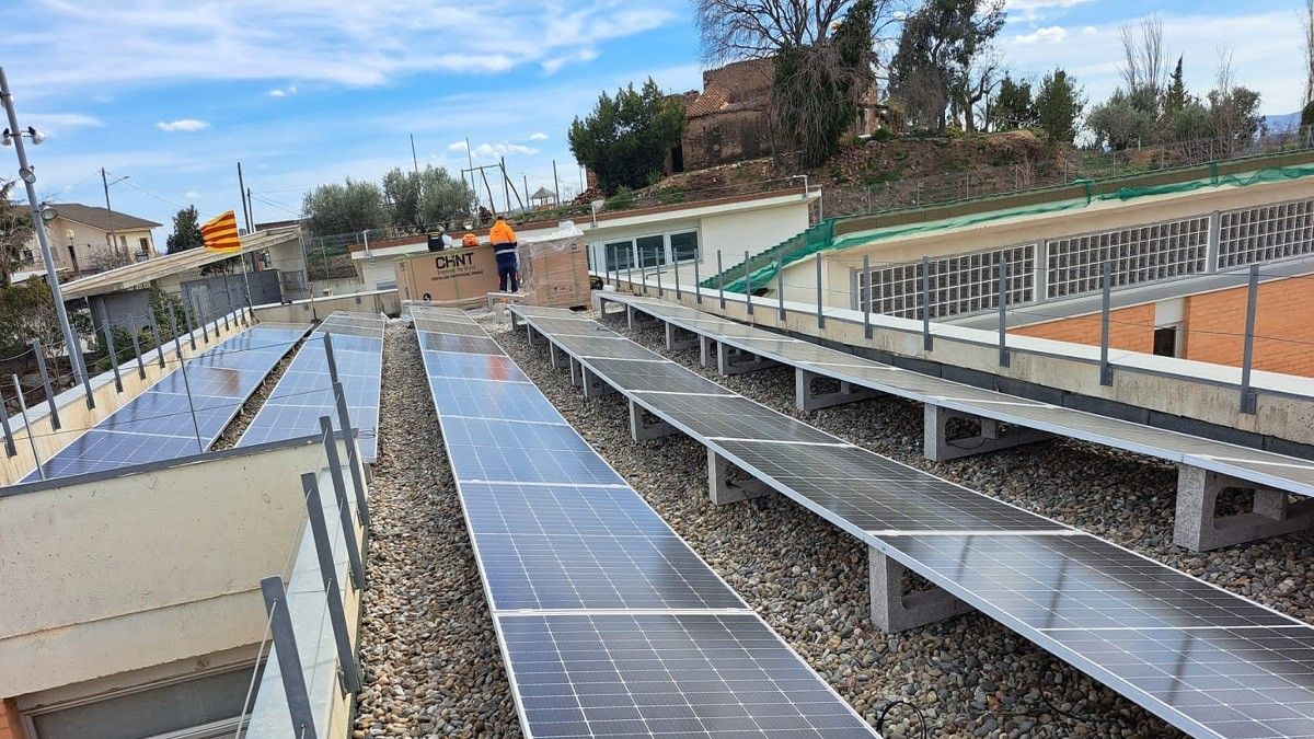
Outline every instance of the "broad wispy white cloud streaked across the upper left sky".
{"label": "broad wispy white cloud streaked across the upper left sky", "polygon": [[[47,0],[30,33],[4,39],[7,71],[51,92],[185,80],[309,80],[381,85],[420,72],[501,72],[586,62],[608,39],[675,21],[677,0]],[[258,30],[252,30],[258,29]],[[461,29],[461,49],[432,39]],[[96,54],[51,38],[114,38]],[[148,53],[142,53],[142,50]],[[478,53],[469,51],[480,50]],[[289,89],[284,93],[289,93]]]}

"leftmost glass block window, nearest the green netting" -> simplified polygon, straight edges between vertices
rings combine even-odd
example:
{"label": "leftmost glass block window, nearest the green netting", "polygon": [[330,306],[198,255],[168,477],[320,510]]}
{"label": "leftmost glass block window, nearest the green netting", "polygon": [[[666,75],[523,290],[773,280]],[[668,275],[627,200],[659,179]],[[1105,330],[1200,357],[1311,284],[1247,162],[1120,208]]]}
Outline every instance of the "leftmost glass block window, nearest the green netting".
{"label": "leftmost glass block window, nearest the green netting", "polygon": [[[1008,264],[1009,305],[1035,298],[1035,245],[945,256],[930,262],[930,317],[999,308],[999,270]],[[857,308],[921,318],[921,262],[855,271]]]}

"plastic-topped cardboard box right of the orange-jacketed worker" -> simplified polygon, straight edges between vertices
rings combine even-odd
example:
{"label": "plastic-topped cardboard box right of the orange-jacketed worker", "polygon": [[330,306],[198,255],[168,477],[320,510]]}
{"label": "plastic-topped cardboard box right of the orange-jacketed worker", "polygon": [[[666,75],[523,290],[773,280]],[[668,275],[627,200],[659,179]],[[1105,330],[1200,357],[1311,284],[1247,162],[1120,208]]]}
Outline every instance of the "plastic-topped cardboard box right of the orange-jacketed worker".
{"label": "plastic-topped cardboard box right of the orange-jacketed worker", "polygon": [[572,222],[539,239],[520,242],[520,292],[530,305],[589,305],[589,246]]}

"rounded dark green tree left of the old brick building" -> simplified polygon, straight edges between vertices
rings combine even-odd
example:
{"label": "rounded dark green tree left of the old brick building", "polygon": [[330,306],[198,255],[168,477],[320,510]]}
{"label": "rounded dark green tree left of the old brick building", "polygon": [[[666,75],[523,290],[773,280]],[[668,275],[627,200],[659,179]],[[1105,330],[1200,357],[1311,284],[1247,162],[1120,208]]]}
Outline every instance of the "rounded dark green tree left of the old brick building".
{"label": "rounded dark green tree left of the old brick building", "polygon": [[570,124],[570,153],[598,175],[598,185],[611,193],[616,188],[640,188],[661,176],[666,151],[685,133],[685,104],[668,97],[648,78],[641,89],[633,84],[603,92],[583,120]]}

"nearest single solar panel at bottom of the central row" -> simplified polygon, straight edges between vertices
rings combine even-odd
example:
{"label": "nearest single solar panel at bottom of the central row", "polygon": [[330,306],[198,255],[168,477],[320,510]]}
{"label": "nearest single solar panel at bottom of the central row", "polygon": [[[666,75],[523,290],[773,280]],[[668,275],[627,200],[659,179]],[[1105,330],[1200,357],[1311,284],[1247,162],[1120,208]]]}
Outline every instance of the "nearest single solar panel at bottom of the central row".
{"label": "nearest single solar panel at bottom of the central row", "polygon": [[497,622],[536,736],[872,736],[752,614]]}

